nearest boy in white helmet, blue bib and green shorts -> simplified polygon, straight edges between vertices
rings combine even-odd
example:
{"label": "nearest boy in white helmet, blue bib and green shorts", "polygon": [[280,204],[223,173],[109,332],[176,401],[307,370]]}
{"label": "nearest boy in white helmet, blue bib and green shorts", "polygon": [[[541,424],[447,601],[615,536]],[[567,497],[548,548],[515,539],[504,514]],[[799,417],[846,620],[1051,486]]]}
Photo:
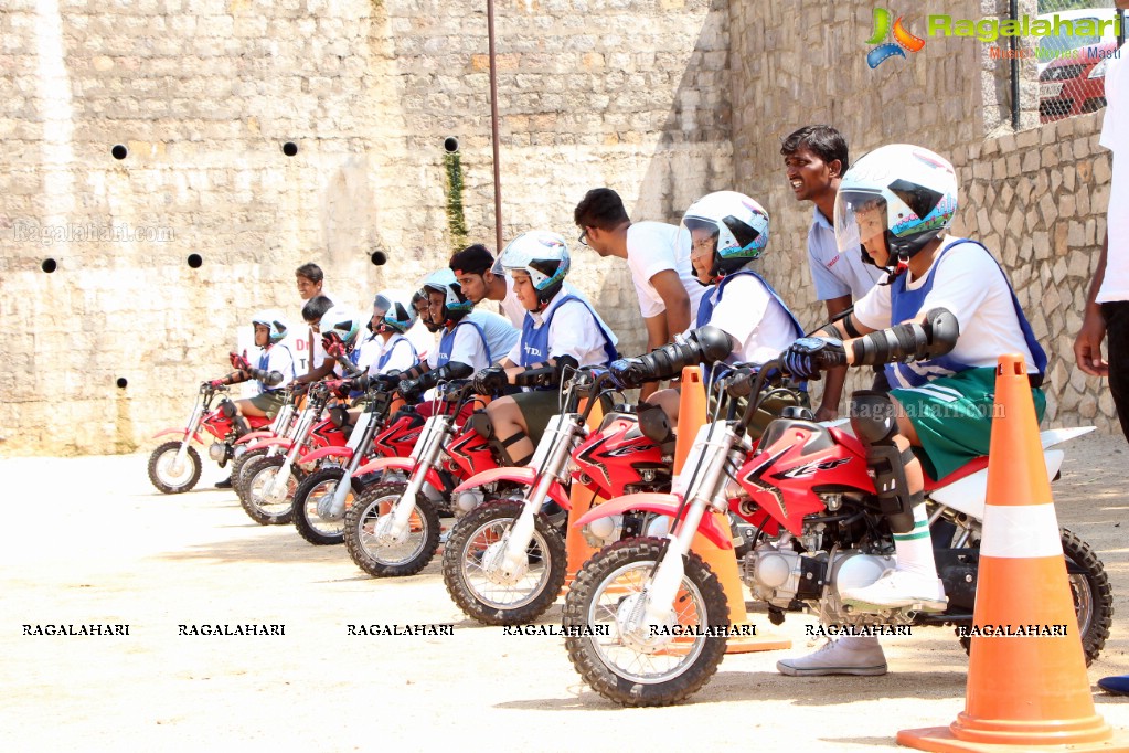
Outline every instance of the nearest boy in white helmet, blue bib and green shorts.
{"label": "nearest boy in white helmet, blue bib and green shorts", "polygon": [[[793,343],[784,356],[800,378],[842,365],[885,365],[890,394],[851,396],[851,427],[866,444],[898,566],[874,584],[843,588],[864,611],[944,611],[925,514],[922,471],[943,479],[988,454],[997,359],[1022,353],[1042,418],[1047,356],[1004,270],[975,240],[943,235],[956,212],[956,175],[939,155],[891,145],[864,156],[835,199],[840,249],[861,246],[889,272],[847,318]],[[920,448],[914,455],[911,446]],[[849,637],[779,662],[790,675],[883,674],[876,638]]]}

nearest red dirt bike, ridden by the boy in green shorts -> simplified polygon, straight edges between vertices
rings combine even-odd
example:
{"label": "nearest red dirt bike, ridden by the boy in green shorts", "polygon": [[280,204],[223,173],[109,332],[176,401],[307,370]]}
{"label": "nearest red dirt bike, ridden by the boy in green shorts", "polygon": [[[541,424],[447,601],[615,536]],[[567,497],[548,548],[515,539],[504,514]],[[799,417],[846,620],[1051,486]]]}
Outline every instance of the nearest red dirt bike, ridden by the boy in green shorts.
{"label": "nearest red dirt bike, ridden by the boy in green shorts", "polygon": [[[703,426],[671,494],[629,494],[578,520],[590,524],[624,509],[649,509],[674,520],[666,537],[638,537],[607,546],[585,563],[566,598],[566,625],[606,625],[609,637],[566,638],[574,667],[601,695],[623,706],[666,706],[691,695],[717,671],[726,648],[728,614],[718,578],[695,553],[701,533],[721,549],[733,534],[712,513],[732,513],[749,534],[738,570],[756,601],[779,624],[785,612],[807,611],[824,624],[972,624],[979,543],[987,490],[987,458],[926,484],[937,571],[948,605],[882,612],[844,604],[840,592],[874,583],[893,567],[893,542],[867,474],[866,450],[844,428],[815,423],[789,409],[754,447],[745,434],[760,402],[768,364],[737,421]],[[1042,432],[1048,475],[1064,453],[1047,449],[1093,430]],[[1062,548],[1087,664],[1109,636],[1113,599],[1093,549],[1067,529]],[[960,632],[957,632],[960,636]],[[965,649],[966,640],[962,640]]]}

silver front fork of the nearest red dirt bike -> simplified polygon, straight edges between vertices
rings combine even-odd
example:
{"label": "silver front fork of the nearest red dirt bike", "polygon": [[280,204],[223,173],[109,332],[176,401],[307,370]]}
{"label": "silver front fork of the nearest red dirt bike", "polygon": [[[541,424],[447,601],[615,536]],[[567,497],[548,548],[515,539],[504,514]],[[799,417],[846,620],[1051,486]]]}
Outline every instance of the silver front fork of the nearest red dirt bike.
{"label": "silver front fork of the nearest red dirt bike", "polygon": [[[715,424],[717,427],[718,424]],[[673,531],[667,534],[667,545],[663,550],[651,570],[650,577],[642,587],[641,610],[637,610],[632,620],[637,624],[664,624],[672,610],[674,598],[685,575],[685,555],[690,552],[694,534],[701,525],[712,500],[720,499],[725,488],[725,467],[729,450],[736,441],[733,429],[725,427],[720,437],[710,431],[701,452],[701,461],[697,464],[694,478],[686,489],[686,504],[682,506],[684,515],[675,520]],[[685,469],[683,469],[685,471]]]}

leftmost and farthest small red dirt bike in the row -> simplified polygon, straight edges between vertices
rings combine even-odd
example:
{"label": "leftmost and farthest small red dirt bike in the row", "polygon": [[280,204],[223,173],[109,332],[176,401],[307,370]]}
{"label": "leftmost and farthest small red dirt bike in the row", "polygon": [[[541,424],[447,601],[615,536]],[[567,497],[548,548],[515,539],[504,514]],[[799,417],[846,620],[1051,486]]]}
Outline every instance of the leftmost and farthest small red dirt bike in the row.
{"label": "leftmost and farthest small red dirt bike in the row", "polygon": [[[200,434],[203,429],[210,434],[216,441],[208,447],[208,457],[219,463],[224,467],[234,456],[234,446],[239,438],[239,431],[234,421],[235,405],[226,396],[219,405],[212,410],[211,404],[217,395],[226,393],[227,387],[204,383],[200,385],[196,394],[196,402],[192,406],[192,414],[187,423],[181,429],[165,429],[154,435],[154,439],[168,435],[178,435],[180,439],[166,441],[159,445],[149,455],[149,481],[152,485],[166,494],[180,494],[189,491],[200,481],[202,470],[200,454],[192,443],[203,445],[204,440]],[[248,418],[247,423],[252,429],[261,428],[270,423],[265,418]]]}

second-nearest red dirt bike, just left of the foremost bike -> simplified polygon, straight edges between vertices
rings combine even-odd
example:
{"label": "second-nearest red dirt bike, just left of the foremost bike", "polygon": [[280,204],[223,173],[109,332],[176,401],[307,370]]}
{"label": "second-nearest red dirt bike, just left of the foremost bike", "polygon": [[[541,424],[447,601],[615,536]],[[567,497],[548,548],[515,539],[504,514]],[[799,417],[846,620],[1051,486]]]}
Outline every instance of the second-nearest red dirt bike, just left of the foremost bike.
{"label": "second-nearest red dirt bike, just left of the foremost bike", "polygon": [[[550,419],[528,465],[480,471],[455,489],[465,494],[508,483],[513,492],[476,506],[452,528],[443,580],[469,616],[484,624],[520,624],[541,616],[560,594],[568,570],[564,548],[572,483],[593,497],[669,489],[673,445],[665,449],[639,428],[630,406],[616,406],[589,434],[587,420],[605,389],[606,369],[580,369],[561,383],[561,412]],[[579,410],[580,397],[587,404]],[[662,437],[659,437],[662,439]],[[641,533],[640,516],[615,528]]]}

